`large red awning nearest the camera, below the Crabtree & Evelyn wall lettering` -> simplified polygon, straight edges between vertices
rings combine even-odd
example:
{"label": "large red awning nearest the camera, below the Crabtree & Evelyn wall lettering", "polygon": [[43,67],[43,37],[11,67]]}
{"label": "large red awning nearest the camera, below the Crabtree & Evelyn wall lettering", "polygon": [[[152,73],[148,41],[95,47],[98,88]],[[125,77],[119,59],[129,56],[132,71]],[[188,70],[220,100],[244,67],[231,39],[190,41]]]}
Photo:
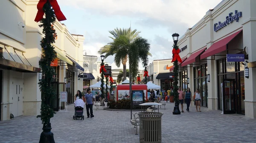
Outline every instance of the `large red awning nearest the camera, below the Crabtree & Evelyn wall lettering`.
{"label": "large red awning nearest the camera, below the Crabtree & Evelyn wall lettering", "polygon": [[208,56],[212,56],[212,55],[215,55],[217,53],[221,53],[223,52],[224,50],[227,50],[226,48],[226,45],[233,39],[236,37],[236,35],[238,35],[242,30],[230,35],[230,36],[227,36],[226,38],[224,39],[221,39],[220,41],[212,44],[211,47],[209,47],[201,56],[200,56],[200,59],[204,59],[204,58],[207,58]]}

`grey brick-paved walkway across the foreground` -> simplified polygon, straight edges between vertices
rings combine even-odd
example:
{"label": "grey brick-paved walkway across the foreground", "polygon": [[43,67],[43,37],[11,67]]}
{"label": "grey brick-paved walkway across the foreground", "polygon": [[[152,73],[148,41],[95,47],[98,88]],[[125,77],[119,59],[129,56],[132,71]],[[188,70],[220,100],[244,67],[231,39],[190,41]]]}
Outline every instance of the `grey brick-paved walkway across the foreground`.
{"label": "grey brick-paved walkway across the foreground", "polygon": [[[172,115],[174,104],[167,103],[162,117],[162,143],[256,143],[256,119],[244,115],[221,115],[208,110]],[[186,107],[186,106],[185,106]],[[51,119],[56,143],[139,143],[139,135],[130,123],[130,112],[94,109],[94,118],[73,121],[69,112],[57,112]],[[86,117],[86,112],[84,114]],[[38,143],[42,124],[35,116],[0,121],[0,143]]]}

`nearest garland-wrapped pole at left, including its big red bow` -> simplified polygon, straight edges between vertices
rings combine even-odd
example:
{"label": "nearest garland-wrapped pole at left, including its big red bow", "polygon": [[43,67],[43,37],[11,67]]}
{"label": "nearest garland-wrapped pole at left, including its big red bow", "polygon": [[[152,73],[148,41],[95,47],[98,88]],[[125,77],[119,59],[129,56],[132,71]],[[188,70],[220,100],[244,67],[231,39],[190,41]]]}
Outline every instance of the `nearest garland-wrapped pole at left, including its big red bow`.
{"label": "nearest garland-wrapped pole at left, including its big red bow", "polygon": [[[43,48],[43,54],[39,61],[39,66],[42,70],[44,78],[39,81],[39,87],[41,90],[41,115],[37,118],[41,118],[43,124],[43,132],[41,133],[39,143],[55,143],[53,133],[51,132],[52,126],[50,118],[52,118],[55,112],[52,109],[52,102],[56,98],[55,90],[51,86],[53,81],[53,75],[55,70],[51,67],[51,62],[54,61],[56,53],[54,47],[51,45],[55,42],[57,34],[53,28],[53,24],[56,20],[66,20],[64,14],[62,14],[60,7],[56,0],[40,0],[37,5],[38,13],[35,17],[35,22],[41,22],[39,27],[43,27],[44,38],[41,40],[41,47]],[[43,18],[45,14],[45,18]],[[55,18],[56,17],[56,18]]]}

